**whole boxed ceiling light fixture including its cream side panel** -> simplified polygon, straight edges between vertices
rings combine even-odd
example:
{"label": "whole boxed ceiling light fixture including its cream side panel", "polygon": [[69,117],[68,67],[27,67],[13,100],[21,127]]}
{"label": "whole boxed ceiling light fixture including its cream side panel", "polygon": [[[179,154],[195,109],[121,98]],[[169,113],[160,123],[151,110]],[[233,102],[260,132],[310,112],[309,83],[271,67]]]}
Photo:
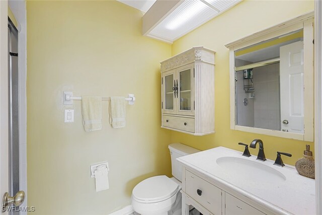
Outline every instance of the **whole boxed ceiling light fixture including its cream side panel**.
{"label": "whole boxed ceiling light fixture including its cream side panel", "polygon": [[148,37],[173,43],[241,1],[157,0],[142,18],[142,33]]}

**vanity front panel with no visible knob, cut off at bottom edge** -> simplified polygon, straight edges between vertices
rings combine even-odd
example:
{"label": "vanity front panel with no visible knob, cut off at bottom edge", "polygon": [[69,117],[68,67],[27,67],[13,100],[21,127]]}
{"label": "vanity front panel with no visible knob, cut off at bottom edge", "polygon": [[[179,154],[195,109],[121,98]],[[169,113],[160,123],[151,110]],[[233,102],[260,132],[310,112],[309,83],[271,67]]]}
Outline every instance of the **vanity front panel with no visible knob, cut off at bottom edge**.
{"label": "vanity front panel with no visible knob, cut off at bottom edge", "polygon": [[240,214],[240,215],[265,215],[255,207],[239,200],[238,198],[225,193],[225,214]]}

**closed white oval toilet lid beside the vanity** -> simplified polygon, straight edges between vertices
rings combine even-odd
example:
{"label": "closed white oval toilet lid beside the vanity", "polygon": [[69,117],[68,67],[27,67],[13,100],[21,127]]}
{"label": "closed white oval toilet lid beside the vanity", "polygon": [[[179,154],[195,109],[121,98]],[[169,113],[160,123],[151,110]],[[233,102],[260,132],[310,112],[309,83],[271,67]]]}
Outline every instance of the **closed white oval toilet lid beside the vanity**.
{"label": "closed white oval toilet lid beside the vanity", "polygon": [[132,192],[133,197],[144,201],[162,201],[173,196],[179,185],[165,175],[147,178],[138,183]]}

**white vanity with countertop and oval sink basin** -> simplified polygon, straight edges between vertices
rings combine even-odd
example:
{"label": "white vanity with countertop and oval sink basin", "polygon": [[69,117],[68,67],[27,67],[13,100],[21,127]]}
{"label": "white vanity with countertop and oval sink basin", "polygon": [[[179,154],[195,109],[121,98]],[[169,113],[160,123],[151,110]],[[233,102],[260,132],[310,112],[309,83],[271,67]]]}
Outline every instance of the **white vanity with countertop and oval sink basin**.
{"label": "white vanity with countertop and oval sink basin", "polygon": [[182,165],[182,214],[316,214],[315,181],[293,166],[217,147],[177,159]]}

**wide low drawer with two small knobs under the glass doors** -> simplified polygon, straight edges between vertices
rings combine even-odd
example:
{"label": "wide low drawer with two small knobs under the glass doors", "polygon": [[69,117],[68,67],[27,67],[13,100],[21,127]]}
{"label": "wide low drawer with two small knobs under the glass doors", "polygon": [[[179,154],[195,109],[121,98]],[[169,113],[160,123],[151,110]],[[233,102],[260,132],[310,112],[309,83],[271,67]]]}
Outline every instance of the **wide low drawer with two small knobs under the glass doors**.
{"label": "wide low drawer with two small knobs under the glass doors", "polygon": [[164,127],[195,132],[195,119],[179,116],[163,115],[162,125]]}

